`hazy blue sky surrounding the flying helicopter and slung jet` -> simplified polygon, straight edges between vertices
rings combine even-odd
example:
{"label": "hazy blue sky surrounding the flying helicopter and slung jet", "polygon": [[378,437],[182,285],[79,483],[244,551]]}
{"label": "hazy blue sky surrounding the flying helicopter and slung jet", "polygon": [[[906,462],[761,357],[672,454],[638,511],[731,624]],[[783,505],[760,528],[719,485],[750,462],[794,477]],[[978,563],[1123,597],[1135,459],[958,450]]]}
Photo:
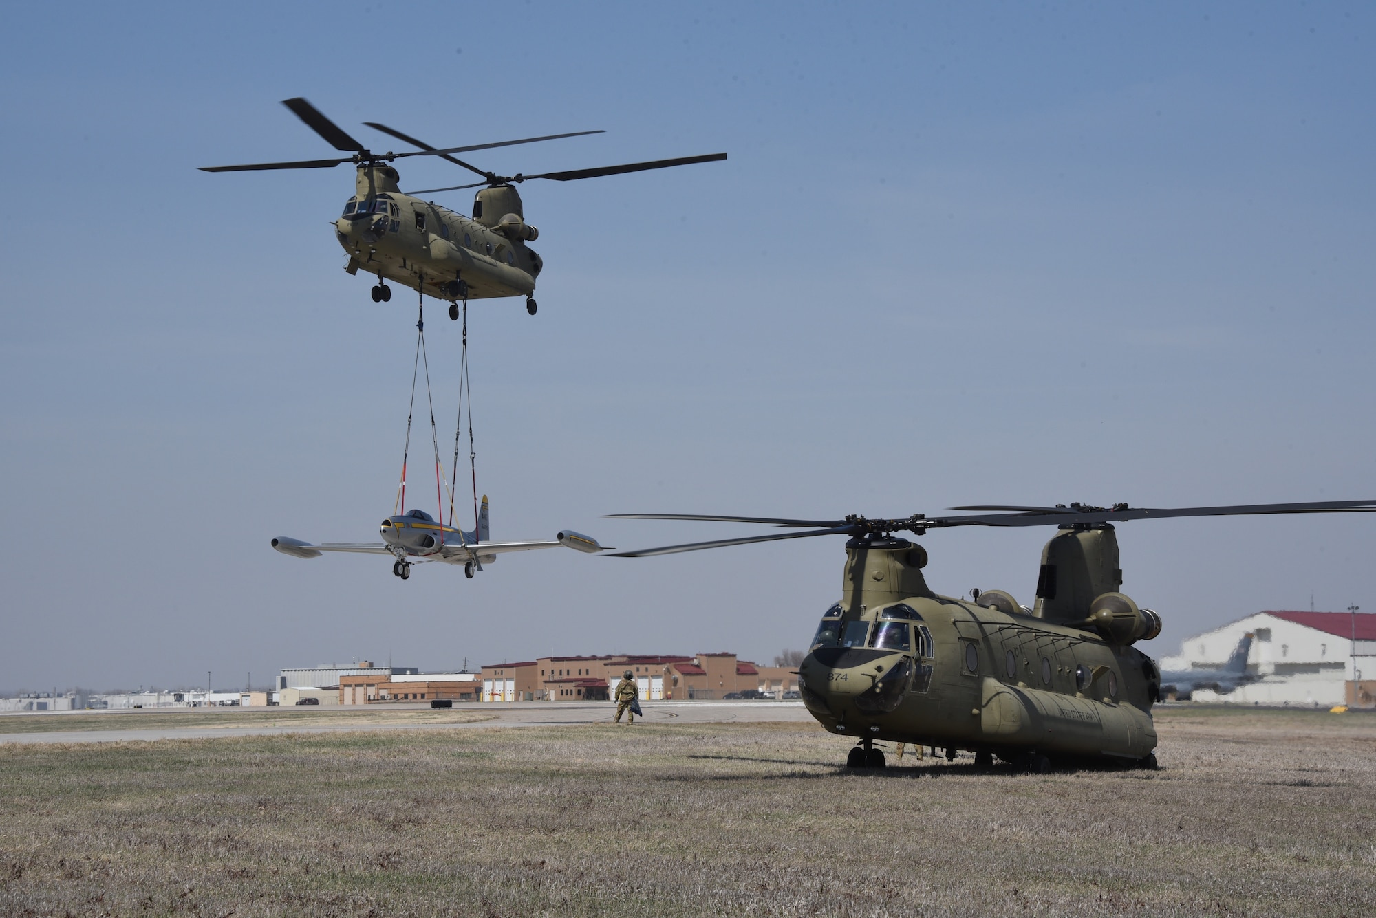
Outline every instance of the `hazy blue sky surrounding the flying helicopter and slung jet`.
{"label": "hazy blue sky surrounding the flying helicopter and slung jet", "polygon": [[[400,144],[362,121],[435,144],[607,131],[473,155],[504,172],[731,155],[522,187],[539,315],[471,309],[494,537],[749,535],[599,518],[626,511],[1376,496],[1370,7],[857,10],[11,8],[0,687],[768,661],[839,592],[821,539],[552,551],[472,581],[271,551],[374,537],[414,346],[414,302],[341,269],[347,168],[195,169],[329,155],[278,104],[296,95],[377,148]],[[431,317],[443,438],[458,328]],[[1376,609],[1373,526],[1123,525],[1124,590],[1165,618],[1148,650],[1311,592]],[[932,533],[929,579],[1031,602],[1049,535]]]}

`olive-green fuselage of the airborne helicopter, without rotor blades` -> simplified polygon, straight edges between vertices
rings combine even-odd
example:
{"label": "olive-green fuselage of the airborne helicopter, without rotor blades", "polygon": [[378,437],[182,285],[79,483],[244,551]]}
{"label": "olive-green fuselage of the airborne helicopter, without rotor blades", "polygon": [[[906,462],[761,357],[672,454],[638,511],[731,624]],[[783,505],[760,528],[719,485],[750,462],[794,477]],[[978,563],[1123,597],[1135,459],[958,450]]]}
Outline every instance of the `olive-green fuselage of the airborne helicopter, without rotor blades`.
{"label": "olive-green fuselage of the airborne helicopter, without rotor blades", "polygon": [[475,212],[465,217],[403,194],[395,169],[366,165],[334,220],[334,235],[350,256],[350,273],[380,276],[442,300],[530,297],[544,265],[526,245],[538,231],[526,224],[516,190],[484,188]]}

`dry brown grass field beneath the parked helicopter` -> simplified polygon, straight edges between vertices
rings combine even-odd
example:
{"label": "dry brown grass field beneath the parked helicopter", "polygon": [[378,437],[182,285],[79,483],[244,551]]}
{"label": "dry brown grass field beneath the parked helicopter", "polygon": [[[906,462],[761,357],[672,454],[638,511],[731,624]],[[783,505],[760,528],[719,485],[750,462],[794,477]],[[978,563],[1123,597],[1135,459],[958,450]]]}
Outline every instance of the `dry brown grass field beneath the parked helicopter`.
{"label": "dry brown grass field beneath the parked helicopter", "polygon": [[1376,914],[1376,716],[1157,723],[1160,771],[1050,775],[806,724],[0,746],[0,914]]}

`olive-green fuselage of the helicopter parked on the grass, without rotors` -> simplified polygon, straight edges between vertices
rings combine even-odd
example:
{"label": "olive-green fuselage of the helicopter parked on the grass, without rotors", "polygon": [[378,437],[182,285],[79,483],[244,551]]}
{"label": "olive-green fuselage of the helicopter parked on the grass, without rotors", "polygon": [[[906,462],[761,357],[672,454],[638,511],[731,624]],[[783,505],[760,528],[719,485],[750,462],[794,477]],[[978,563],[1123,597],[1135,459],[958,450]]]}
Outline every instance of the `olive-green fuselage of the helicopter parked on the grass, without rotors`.
{"label": "olive-green fuselage of the helicopter parked on the grass, without rotors", "polygon": [[936,595],[923,563],[901,539],[848,546],[845,598],[799,667],[804,704],[828,731],[1010,761],[1152,754],[1159,673],[1146,654],[1002,591],[987,605]]}

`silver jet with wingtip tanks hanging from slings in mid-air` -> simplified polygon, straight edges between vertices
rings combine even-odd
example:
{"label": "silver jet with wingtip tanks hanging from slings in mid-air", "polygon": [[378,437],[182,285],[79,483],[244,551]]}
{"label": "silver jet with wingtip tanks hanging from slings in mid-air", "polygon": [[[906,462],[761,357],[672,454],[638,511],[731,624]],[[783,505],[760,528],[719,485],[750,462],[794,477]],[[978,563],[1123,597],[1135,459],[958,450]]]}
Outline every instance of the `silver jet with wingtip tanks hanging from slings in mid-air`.
{"label": "silver jet with wingtip tanks hanging from slings in mid-air", "polygon": [[278,536],[272,547],[293,558],[319,558],[325,551],[345,551],[365,555],[392,555],[392,576],[406,580],[411,576],[411,565],[422,561],[443,561],[464,565],[464,574],[473,576],[484,563],[497,561],[497,555],[509,551],[533,551],[535,548],[572,548],[596,554],[607,551],[597,540],[571,529],[559,532],[552,541],[491,541],[487,517],[487,495],[477,513],[477,528],[464,532],[446,526],[424,510],[409,510],[398,517],[388,517],[380,526],[383,541],[325,541],[311,544],[289,536]]}

